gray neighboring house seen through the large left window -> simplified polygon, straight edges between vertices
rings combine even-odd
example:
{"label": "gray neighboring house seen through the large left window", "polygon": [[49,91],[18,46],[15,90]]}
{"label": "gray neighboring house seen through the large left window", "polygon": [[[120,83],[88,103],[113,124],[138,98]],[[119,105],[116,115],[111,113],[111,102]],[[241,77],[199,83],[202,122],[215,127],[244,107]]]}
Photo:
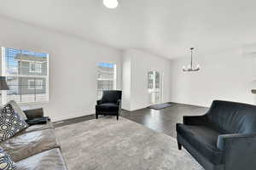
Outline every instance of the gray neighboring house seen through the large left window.
{"label": "gray neighboring house seen through the large left window", "polygon": [[29,54],[17,54],[18,86],[12,89],[15,94],[46,94],[47,58]]}

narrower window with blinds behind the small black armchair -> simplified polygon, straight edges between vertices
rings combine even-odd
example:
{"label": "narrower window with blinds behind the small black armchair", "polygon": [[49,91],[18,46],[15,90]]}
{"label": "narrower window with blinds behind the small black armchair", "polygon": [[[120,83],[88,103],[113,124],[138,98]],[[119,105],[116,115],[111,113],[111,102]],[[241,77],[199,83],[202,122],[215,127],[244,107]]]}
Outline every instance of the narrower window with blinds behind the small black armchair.
{"label": "narrower window with blinds behind the small black armchair", "polygon": [[98,63],[96,66],[97,99],[101,99],[104,90],[116,89],[116,65],[110,63]]}

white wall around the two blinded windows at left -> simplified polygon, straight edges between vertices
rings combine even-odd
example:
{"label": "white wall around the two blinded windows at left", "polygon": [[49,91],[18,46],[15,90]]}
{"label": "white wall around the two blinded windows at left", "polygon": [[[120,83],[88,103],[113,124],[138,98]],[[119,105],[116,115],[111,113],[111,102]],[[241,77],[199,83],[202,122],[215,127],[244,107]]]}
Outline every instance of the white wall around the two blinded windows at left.
{"label": "white wall around the two blinded windows at left", "polygon": [[[54,121],[94,113],[96,63],[117,65],[121,88],[122,53],[118,49],[0,17],[0,45],[49,54],[49,103],[44,106]],[[35,107],[35,106],[32,106]]]}

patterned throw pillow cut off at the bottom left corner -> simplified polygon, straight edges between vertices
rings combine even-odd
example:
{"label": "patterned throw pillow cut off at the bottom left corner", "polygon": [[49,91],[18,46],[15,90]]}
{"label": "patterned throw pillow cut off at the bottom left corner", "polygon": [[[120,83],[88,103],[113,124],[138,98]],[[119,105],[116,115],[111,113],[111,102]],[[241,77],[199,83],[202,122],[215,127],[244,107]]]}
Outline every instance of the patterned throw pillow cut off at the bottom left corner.
{"label": "patterned throw pillow cut off at the bottom left corner", "polygon": [[0,169],[1,170],[18,170],[11,156],[5,153],[1,148],[0,148]]}

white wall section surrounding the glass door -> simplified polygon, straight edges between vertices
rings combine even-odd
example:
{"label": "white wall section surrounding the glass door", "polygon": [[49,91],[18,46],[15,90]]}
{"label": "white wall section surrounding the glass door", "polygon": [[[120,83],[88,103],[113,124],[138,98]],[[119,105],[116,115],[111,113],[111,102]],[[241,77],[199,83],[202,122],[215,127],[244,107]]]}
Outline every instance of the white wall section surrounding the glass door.
{"label": "white wall section surrounding the glass door", "polygon": [[[125,59],[126,58],[126,59]],[[170,60],[160,58],[154,54],[147,54],[137,49],[129,49],[125,51],[124,61],[131,62],[130,67],[123,69],[123,75],[129,74],[126,71],[131,71],[131,81],[123,82],[123,87],[126,83],[131,84],[130,108],[125,108],[129,111],[142,109],[150,105],[148,94],[148,71],[160,71],[164,75],[163,79],[163,100],[169,102],[170,90]],[[125,94],[125,88],[123,88]]]}

